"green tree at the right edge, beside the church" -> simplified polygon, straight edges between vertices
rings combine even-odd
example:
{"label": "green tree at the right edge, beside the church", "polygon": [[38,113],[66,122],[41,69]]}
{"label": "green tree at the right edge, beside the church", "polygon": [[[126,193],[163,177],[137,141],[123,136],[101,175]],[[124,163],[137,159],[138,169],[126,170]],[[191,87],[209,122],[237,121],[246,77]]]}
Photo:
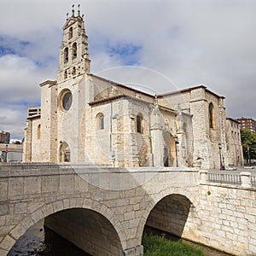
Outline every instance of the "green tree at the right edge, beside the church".
{"label": "green tree at the right edge, beside the church", "polygon": [[248,130],[241,130],[241,145],[244,157],[247,163],[251,163],[251,159],[256,159],[256,134]]}

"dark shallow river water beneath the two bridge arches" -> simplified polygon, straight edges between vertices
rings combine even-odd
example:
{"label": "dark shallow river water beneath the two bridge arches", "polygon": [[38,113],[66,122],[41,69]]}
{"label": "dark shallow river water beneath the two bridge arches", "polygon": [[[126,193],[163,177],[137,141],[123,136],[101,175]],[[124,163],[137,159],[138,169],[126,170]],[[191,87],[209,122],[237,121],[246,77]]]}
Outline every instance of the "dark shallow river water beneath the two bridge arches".
{"label": "dark shallow river water beneath the two bridge arches", "polygon": [[[8,256],[91,256],[89,253],[84,253],[79,247],[73,243],[58,236],[54,231],[44,227],[44,221],[38,222],[26,231],[15,243],[15,246],[8,253]],[[145,232],[152,232],[155,235],[162,235],[160,230],[154,230],[146,227]],[[180,238],[165,234],[165,237],[172,241],[179,241]],[[184,240],[182,240],[184,241]],[[195,244],[191,241],[184,241],[193,246],[201,247],[207,256],[228,256],[230,254],[222,253],[209,247],[204,247]],[[103,255],[102,255],[103,256]]]}

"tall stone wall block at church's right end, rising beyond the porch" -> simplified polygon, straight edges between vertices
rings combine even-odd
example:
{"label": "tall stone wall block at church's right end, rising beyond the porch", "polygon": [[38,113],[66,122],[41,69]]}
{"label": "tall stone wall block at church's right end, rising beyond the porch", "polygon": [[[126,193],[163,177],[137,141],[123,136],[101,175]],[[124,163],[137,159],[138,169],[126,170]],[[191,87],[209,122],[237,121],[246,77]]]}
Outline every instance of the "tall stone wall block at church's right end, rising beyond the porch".
{"label": "tall stone wall block at church's right end, rising beyond the porch", "polygon": [[[160,102],[170,102],[172,108],[181,108],[193,116],[193,160],[200,160],[201,166],[206,169],[219,168],[218,143],[221,144],[222,154],[226,158],[224,98],[207,90],[205,86],[198,86],[163,95]],[[213,106],[211,128],[210,103]]]}

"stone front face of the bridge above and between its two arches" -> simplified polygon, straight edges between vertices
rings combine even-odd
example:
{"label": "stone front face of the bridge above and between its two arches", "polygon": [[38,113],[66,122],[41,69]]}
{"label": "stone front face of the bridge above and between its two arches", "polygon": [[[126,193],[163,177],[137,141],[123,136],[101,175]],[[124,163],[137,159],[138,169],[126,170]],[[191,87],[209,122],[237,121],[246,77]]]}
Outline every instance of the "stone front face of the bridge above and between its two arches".
{"label": "stone front face of the bridge above and between its two arches", "polygon": [[[74,172],[73,168],[65,164],[1,166],[0,253],[5,255],[15,240],[42,218],[55,212],[83,208],[104,217],[93,215],[96,221],[90,224],[104,224],[102,229],[111,234],[116,230],[125,255],[138,256],[143,252],[144,224],[155,201],[170,193],[189,191],[190,196],[197,183],[197,172],[191,170],[178,174],[175,171],[171,173],[172,169],[168,168],[165,172],[81,165],[77,165]],[[174,188],[177,183],[183,189]],[[87,220],[84,224],[89,225]],[[109,229],[110,226],[113,229]]]}

